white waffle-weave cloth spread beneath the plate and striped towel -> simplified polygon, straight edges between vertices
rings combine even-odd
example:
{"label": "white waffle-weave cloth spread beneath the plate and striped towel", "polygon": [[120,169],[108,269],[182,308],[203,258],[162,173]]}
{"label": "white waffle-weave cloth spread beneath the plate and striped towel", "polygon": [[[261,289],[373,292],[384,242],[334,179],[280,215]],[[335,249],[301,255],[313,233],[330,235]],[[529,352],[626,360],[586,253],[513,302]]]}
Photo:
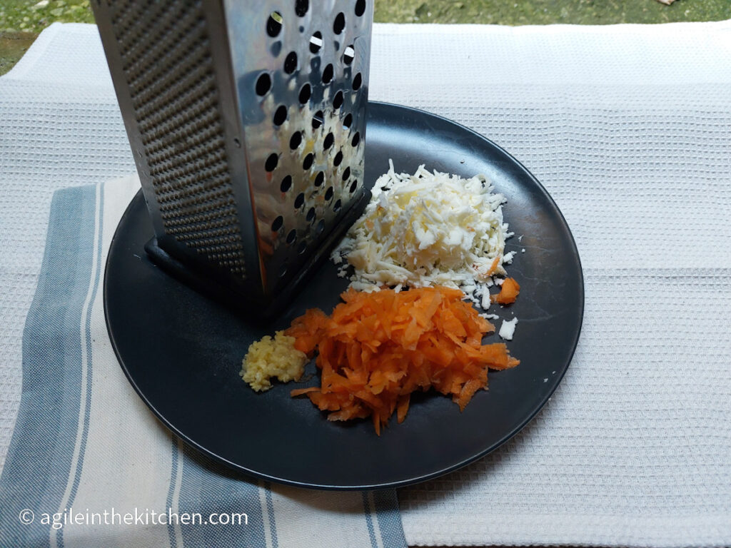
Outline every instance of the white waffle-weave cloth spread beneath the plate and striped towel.
{"label": "white waffle-weave cloth spread beneath the plate and striped towel", "polygon": [[[586,276],[556,395],[499,451],[401,490],[406,541],[731,544],[731,22],[376,25],[371,63],[371,99],[522,161]],[[0,125],[1,464],[50,191],[133,168],[93,27],[39,37],[0,79]]]}

